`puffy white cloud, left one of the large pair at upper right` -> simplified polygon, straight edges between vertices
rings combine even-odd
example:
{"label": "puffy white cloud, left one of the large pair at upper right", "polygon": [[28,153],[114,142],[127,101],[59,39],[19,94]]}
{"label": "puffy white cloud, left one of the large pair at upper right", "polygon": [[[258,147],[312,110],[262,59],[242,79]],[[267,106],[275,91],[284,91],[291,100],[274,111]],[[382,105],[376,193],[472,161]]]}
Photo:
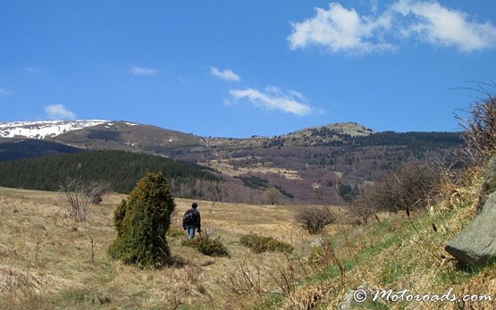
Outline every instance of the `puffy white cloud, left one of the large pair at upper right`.
{"label": "puffy white cloud, left one of the large pair at upper right", "polygon": [[290,48],[309,45],[324,46],[332,53],[372,53],[394,49],[382,42],[381,33],[391,28],[391,16],[379,18],[358,15],[354,9],[340,4],[329,4],[329,10],[315,9],[315,16],[302,22],[292,23],[293,32],[288,37]]}

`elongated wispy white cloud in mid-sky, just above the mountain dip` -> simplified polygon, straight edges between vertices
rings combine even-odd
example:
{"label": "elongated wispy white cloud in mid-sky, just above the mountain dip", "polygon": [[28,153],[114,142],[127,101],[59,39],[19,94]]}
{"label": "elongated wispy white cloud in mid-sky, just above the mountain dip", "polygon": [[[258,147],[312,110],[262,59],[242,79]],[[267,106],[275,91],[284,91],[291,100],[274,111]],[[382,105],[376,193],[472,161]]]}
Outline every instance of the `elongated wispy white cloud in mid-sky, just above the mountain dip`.
{"label": "elongated wispy white cloud in mid-sky, just above the mountain dip", "polygon": [[[284,91],[281,88],[266,88],[261,92],[254,88],[236,89],[230,91],[235,100],[246,99],[252,105],[265,110],[279,110],[285,113],[307,115],[313,112],[312,107],[303,100],[304,97],[294,91]],[[226,101],[226,105],[231,102]]]}

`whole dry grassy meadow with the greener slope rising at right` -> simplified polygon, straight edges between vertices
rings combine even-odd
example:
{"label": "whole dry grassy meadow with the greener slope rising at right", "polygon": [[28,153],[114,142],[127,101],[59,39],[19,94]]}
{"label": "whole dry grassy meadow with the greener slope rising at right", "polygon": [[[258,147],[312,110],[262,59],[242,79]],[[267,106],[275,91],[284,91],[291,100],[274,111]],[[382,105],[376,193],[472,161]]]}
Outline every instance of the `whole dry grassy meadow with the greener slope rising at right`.
{"label": "whole dry grassy meadow with the greener slope rising at right", "polygon": [[[462,185],[443,184],[428,210],[378,214],[338,222],[309,235],[295,222],[297,205],[233,205],[198,201],[202,228],[219,239],[227,257],[185,247],[181,214],[190,200],[175,199],[168,233],[174,261],[161,270],[111,260],[113,210],[124,198],[110,194],[93,205],[87,222],[68,219],[61,193],[0,188],[0,308],[2,309],[336,309],[349,292],[408,289],[416,295],[496,297],[496,265],[459,266],[444,243],[475,214],[481,171]],[[348,222],[348,224],[344,224]],[[256,253],[240,238],[256,233],[293,247]],[[366,302],[362,309],[494,309],[495,301]]]}

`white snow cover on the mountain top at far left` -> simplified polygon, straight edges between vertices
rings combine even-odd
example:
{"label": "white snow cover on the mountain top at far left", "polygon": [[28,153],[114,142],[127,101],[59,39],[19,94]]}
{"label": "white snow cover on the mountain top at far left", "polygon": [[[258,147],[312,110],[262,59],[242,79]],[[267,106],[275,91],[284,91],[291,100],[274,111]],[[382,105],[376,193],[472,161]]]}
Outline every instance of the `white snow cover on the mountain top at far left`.
{"label": "white snow cover on the mountain top at far left", "polygon": [[111,123],[104,120],[0,122],[0,138],[52,138],[71,130]]}

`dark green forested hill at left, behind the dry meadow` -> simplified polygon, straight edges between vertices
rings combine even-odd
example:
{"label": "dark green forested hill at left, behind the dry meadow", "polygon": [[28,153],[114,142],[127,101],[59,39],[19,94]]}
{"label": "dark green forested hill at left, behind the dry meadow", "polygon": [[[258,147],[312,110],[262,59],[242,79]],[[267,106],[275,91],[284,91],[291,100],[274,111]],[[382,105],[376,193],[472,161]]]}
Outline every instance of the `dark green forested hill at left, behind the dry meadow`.
{"label": "dark green forested hill at left, behind the dry meadow", "polygon": [[[146,172],[164,172],[176,191],[194,189],[197,180],[219,180],[195,163],[124,151],[90,151],[0,163],[0,186],[58,190],[67,180],[105,181],[110,189],[128,193]],[[198,193],[190,193],[192,196]],[[186,195],[188,196],[188,195]]]}

